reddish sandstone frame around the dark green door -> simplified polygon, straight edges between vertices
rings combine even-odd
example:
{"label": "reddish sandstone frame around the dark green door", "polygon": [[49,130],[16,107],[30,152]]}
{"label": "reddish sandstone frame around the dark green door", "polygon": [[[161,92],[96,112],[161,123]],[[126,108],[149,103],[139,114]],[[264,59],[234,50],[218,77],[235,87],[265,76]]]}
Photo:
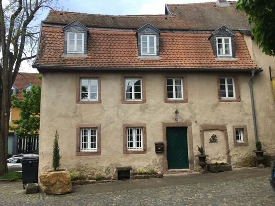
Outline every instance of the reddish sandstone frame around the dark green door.
{"label": "reddish sandstone frame around the dark green door", "polygon": [[[188,162],[189,170],[194,170],[194,153],[193,153],[193,136],[192,136],[192,123],[187,122],[163,122],[163,172],[166,174],[168,172],[168,160],[167,160],[167,128],[173,127],[186,127],[187,128],[187,144],[188,144]],[[188,169],[187,169],[188,170]]]}

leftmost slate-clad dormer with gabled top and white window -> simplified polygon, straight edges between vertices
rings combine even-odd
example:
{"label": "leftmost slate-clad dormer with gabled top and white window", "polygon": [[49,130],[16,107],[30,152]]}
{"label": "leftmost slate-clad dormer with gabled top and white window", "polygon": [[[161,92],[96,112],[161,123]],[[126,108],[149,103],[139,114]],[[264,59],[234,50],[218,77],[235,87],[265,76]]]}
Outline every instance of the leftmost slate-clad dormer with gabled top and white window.
{"label": "leftmost slate-clad dormer with gabled top and white window", "polygon": [[63,28],[64,55],[85,56],[87,54],[87,38],[89,29],[78,21],[73,21]]}

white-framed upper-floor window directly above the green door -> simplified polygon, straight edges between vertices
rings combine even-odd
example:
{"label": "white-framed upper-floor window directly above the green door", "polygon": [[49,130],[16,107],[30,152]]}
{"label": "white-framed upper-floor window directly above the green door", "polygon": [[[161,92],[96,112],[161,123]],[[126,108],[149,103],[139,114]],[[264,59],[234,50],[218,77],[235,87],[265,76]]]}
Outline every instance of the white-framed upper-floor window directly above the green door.
{"label": "white-framed upper-floor window directly above the green door", "polygon": [[167,99],[183,100],[182,78],[166,79]]}

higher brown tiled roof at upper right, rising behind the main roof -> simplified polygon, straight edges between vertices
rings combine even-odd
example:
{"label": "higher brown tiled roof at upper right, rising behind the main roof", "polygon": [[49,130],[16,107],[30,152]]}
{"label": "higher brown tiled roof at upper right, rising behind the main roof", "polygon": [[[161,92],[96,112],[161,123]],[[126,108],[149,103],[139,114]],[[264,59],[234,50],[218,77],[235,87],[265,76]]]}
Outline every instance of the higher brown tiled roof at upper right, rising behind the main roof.
{"label": "higher brown tiled roof at upper right, rising behind the main roof", "polygon": [[229,3],[229,7],[218,7],[215,2],[168,4],[167,7],[173,15],[191,23],[186,29],[216,30],[224,25],[231,30],[251,30],[246,14],[235,9],[236,2]]}

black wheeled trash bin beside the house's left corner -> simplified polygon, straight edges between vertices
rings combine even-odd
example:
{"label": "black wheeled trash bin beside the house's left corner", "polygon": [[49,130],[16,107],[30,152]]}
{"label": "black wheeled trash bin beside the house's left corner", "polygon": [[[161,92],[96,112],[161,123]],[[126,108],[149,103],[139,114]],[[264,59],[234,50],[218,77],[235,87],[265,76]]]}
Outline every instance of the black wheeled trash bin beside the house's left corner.
{"label": "black wheeled trash bin beside the house's left corner", "polygon": [[22,163],[22,182],[25,189],[28,183],[38,183],[38,158],[24,157]]}

